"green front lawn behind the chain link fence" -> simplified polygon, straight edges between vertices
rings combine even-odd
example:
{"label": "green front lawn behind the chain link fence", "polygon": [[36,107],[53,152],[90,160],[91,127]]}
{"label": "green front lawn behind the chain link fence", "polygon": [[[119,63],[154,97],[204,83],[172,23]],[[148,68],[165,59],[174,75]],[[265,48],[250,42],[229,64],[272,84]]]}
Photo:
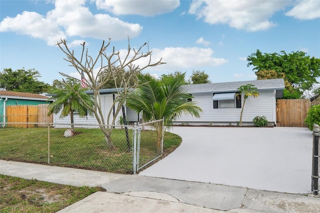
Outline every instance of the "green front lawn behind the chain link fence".
{"label": "green front lawn behind the chain link fence", "polygon": [[[73,137],[63,137],[66,128],[0,128],[0,159],[36,162],[116,173],[132,172],[132,130],[113,129],[111,138],[115,150],[108,148],[98,128],[76,128]],[[165,132],[164,155],[181,143],[181,137]],[[140,165],[158,155],[156,134],[141,131]],[[48,154],[49,147],[49,154]]]}

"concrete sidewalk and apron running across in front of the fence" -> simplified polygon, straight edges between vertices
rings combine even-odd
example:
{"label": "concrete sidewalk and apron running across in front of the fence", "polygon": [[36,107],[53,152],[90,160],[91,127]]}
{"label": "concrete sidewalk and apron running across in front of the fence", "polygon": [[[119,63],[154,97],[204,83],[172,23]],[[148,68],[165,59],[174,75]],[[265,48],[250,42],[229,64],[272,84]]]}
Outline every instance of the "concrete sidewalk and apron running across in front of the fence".
{"label": "concrete sidewalk and apron running across in front of the fence", "polygon": [[320,212],[320,198],[165,178],[0,160],[0,173],[101,186],[59,212]]}

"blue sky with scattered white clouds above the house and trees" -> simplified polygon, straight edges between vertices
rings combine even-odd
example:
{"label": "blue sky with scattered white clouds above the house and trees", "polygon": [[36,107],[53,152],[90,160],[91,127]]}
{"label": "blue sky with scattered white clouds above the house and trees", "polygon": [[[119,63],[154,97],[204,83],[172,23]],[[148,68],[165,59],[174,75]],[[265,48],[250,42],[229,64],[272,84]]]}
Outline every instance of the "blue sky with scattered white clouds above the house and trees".
{"label": "blue sky with scattered white clouds above the house and trees", "polygon": [[0,0],[0,70],[34,68],[51,84],[79,77],[57,41],[96,55],[102,40],[124,51],[148,42],[144,72],[204,70],[211,82],[254,80],[246,57],[259,49],[320,58],[320,0]]}

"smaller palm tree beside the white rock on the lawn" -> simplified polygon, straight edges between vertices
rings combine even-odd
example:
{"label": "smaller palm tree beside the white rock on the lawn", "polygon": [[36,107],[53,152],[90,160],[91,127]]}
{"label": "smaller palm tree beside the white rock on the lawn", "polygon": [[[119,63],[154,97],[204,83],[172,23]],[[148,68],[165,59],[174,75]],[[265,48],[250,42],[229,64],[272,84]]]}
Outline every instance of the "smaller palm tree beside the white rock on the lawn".
{"label": "smaller palm tree beside the white rock on the lawn", "polygon": [[[65,84],[64,88],[53,88],[51,90],[51,93],[54,94],[52,97],[53,102],[49,104],[49,111],[47,114],[58,113],[60,110],[62,110],[62,117],[70,114],[70,123],[71,128],[73,129],[73,112],[78,113],[80,116],[93,114],[91,111],[87,110],[87,107],[83,104],[83,101],[85,101],[88,105],[93,105],[92,96],[85,93],[85,90],[87,90],[87,88],[81,88],[80,83],[75,83],[73,85]],[[78,91],[78,94],[74,91]]]}

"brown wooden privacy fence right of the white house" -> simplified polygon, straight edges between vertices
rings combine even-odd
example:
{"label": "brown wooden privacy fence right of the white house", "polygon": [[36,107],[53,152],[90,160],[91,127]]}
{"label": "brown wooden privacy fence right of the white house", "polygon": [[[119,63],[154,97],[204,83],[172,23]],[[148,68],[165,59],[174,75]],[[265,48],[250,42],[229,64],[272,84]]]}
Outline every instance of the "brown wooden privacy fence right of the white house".
{"label": "brown wooden privacy fence right of the white house", "polygon": [[276,125],[307,127],[304,119],[310,105],[310,99],[278,99],[276,101]]}

